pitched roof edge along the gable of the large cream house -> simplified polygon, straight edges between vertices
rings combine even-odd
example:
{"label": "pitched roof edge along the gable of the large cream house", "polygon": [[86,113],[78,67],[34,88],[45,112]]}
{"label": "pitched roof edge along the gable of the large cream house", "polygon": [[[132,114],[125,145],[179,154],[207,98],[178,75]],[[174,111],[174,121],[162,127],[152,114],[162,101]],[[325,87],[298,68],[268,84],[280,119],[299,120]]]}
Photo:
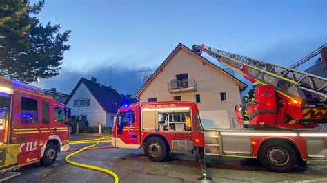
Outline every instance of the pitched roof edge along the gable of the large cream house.
{"label": "pitched roof edge along the gable of the large cream house", "polygon": [[135,96],[137,98],[139,98],[139,96],[141,95],[141,93],[143,92],[144,89],[146,89],[146,87],[148,87],[148,85],[150,85],[150,83],[152,82],[152,80],[160,73],[161,69],[163,69],[167,63],[172,59],[172,57],[175,56],[175,54],[177,54],[177,52],[181,49],[186,50],[187,52],[189,52],[190,54],[197,56],[198,58],[200,58],[201,61],[204,61],[204,63],[214,67],[215,69],[218,69],[219,71],[223,72],[224,74],[226,74],[227,76],[229,76],[230,78],[232,78],[232,80],[235,81],[235,83],[237,83],[239,85],[239,87],[241,88],[241,90],[246,89],[246,87],[248,85],[246,85],[246,83],[242,82],[241,80],[235,78],[235,76],[232,76],[231,74],[229,74],[228,72],[226,72],[224,69],[221,69],[221,67],[218,67],[217,65],[213,64],[212,62],[208,61],[208,59],[204,58],[203,56],[199,56],[197,54],[195,54],[195,52],[193,52],[192,50],[190,50],[190,48],[186,47],[186,45],[183,45],[182,43],[179,43],[174,50],[172,50],[172,52],[169,54],[169,56],[166,58],[166,60],[161,63],[161,65],[155,70],[155,72],[151,75],[150,78],[148,78],[148,80],[146,81],[146,83],[143,84],[143,86],[141,87],[141,89],[139,89],[139,91],[135,94]]}

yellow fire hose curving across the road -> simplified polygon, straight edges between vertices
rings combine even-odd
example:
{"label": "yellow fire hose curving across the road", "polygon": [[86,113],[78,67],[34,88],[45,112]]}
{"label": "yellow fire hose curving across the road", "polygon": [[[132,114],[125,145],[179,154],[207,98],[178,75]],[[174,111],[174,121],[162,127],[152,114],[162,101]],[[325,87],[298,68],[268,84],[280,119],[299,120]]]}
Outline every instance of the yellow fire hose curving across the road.
{"label": "yellow fire hose curving across the road", "polygon": [[95,171],[102,171],[103,173],[108,173],[109,175],[111,175],[112,177],[115,178],[115,183],[118,183],[119,182],[119,178],[116,175],[116,173],[114,173],[114,172],[112,172],[112,171],[110,171],[108,169],[103,169],[103,168],[100,168],[100,167],[97,167],[97,166],[91,166],[91,165],[88,165],[88,164],[81,164],[81,163],[78,163],[78,162],[72,162],[71,160],[68,160],[68,158],[72,157],[73,155],[77,155],[78,153],[81,153],[82,151],[85,151],[85,150],[112,148],[112,146],[95,147],[100,142],[111,142],[111,139],[110,140],[102,140],[102,139],[110,139],[110,138],[99,138],[99,139],[94,139],[94,140],[79,140],[79,141],[72,141],[72,142],[70,142],[70,144],[88,144],[88,143],[95,143],[95,144],[89,145],[87,147],[83,147],[82,149],[71,149],[71,150],[68,150],[68,151],[75,151],[75,150],[76,151],[74,153],[71,153],[70,155],[67,155],[66,158],[65,158],[65,162],[67,162],[69,164],[72,164],[72,165],[75,165],[75,166],[79,166],[79,167],[85,168],[85,169],[92,169],[92,170],[95,170]]}

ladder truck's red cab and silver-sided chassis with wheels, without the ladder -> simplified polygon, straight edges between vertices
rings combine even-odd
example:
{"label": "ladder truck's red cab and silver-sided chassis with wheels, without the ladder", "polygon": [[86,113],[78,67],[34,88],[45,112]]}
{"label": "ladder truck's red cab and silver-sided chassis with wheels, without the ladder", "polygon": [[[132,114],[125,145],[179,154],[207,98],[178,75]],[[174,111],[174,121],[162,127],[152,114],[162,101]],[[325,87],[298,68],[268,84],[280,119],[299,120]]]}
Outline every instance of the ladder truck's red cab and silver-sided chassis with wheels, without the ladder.
{"label": "ladder truck's red cab and silver-sided chassis with wheels, without the ladder", "polygon": [[327,160],[327,133],[292,129],[202,129],[190,102],[136,103],[121,107],[112,145],[139,149],[152,161],[199,151],[217,157],[259,158],[272,171],[290,171],[309,160]]}

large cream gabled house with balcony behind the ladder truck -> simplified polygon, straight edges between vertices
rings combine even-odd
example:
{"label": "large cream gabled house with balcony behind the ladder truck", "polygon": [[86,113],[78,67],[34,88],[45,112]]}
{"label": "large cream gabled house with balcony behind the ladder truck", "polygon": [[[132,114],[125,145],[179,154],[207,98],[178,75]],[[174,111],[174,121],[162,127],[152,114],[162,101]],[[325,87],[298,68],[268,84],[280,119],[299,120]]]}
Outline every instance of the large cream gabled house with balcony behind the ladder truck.
{"label": "large cream gabled house with balcony behind the ladder truck", "polygon": [[240,92],[246,87],[241,80],[179,43],[135,96],[140,102],[192,101],[197,103],[204,125],[219,123],[219,127],[230,127],[230,121],[236,117],[234,107],[241,104]]}

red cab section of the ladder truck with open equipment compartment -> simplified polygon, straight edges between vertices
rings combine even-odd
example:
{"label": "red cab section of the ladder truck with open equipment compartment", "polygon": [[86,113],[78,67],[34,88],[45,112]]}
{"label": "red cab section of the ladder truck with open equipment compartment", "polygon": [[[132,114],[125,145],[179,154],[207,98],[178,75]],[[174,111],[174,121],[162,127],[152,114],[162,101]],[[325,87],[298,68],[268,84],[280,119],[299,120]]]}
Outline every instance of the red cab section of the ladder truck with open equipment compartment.
{"label": "red cab section of the ladder truck with open equipment compartment", "polygon": [[112,145],[144,146],[150,160],[162,161],[170,151],[204,147],[199,110],[190,102],[139,103],[121,107],[113,127]]}

